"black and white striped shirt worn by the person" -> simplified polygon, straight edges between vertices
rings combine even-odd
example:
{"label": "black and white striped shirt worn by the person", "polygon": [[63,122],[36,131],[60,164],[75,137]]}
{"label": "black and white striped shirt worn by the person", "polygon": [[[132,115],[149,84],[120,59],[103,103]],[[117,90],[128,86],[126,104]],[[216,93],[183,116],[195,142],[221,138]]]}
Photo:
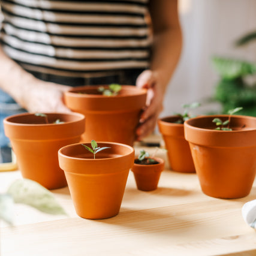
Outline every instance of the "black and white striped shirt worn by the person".
{"label": "black and white striped shirt worn by the person", "polygon": [[148,0],[0,0],[1,44],[23,68],[83,77],[149,66]]}

